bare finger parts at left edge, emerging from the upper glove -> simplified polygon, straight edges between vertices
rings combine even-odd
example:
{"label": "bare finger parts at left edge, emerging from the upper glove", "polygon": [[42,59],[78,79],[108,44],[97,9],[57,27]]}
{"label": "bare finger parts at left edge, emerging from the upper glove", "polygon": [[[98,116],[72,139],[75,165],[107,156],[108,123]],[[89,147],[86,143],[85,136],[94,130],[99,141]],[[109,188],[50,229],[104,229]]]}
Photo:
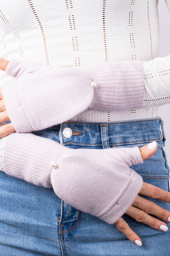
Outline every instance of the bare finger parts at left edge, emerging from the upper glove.
{"label": "bare finger parts at left edge, emerging from the upper glove", "polygon": [[[6,68],[7,68],[8,63],[9,63],[8,60],[0,59],[0,69],[5,71]],[[6,110],[5,103],[4,103],[4,98],[3,98],[3,95],[2,95],[2,88],[0,88],[0,111],[1,111],[1,113],[0,113],[0,123],[2,123],[4,121],[11,121],[10,118],[9,118],[9,115],[7,113],[7,110]],[[8,123],[8,124],[0,127],[0,138],[4,137],[6,135],[9,135],[10,133],[13,133],[13,132],[15,132],[13,124]]]}

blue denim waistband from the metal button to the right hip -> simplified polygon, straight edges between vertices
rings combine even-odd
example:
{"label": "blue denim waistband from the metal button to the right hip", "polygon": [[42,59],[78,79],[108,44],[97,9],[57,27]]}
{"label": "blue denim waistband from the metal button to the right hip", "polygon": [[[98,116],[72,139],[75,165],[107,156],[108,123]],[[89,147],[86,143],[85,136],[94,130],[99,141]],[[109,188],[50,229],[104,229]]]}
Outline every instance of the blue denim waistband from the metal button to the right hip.
{"label": "blue denim waistband from the metal button to the right hip", "polygon": [[[65,137],[66,130],[70,137]],[[107,123],[67,121],[60,124],[60,143],[63,145],[108,148],[162,139],[165,137],[160,117]]]}

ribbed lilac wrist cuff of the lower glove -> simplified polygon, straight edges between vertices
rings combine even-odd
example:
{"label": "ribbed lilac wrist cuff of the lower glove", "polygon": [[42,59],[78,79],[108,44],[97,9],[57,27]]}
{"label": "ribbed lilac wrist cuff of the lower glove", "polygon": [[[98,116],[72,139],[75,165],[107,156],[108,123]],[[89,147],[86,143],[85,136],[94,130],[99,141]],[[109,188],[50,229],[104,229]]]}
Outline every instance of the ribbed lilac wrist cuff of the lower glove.
{"label": "ribbed lilac wrist cuff of the lower glove", "polygon": [[4,172],[38,186],[52,187],[51,155],[56,144],[60,146],[32,133],[11,133],[4,149]]}

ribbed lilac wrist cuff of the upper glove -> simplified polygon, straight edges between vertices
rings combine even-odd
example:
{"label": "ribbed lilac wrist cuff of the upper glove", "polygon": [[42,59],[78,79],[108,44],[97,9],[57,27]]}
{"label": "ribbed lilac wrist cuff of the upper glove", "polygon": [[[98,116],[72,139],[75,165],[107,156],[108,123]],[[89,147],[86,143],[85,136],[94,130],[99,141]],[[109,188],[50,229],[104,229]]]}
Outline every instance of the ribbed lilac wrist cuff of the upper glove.
{"label": "ribbed lilac wrist cuff of the upper glove", "polygon": [[101,63],[90,67],[89,75],[98,82],[90,108],[121,111],[142,107],[145,84],[140,60]]}

